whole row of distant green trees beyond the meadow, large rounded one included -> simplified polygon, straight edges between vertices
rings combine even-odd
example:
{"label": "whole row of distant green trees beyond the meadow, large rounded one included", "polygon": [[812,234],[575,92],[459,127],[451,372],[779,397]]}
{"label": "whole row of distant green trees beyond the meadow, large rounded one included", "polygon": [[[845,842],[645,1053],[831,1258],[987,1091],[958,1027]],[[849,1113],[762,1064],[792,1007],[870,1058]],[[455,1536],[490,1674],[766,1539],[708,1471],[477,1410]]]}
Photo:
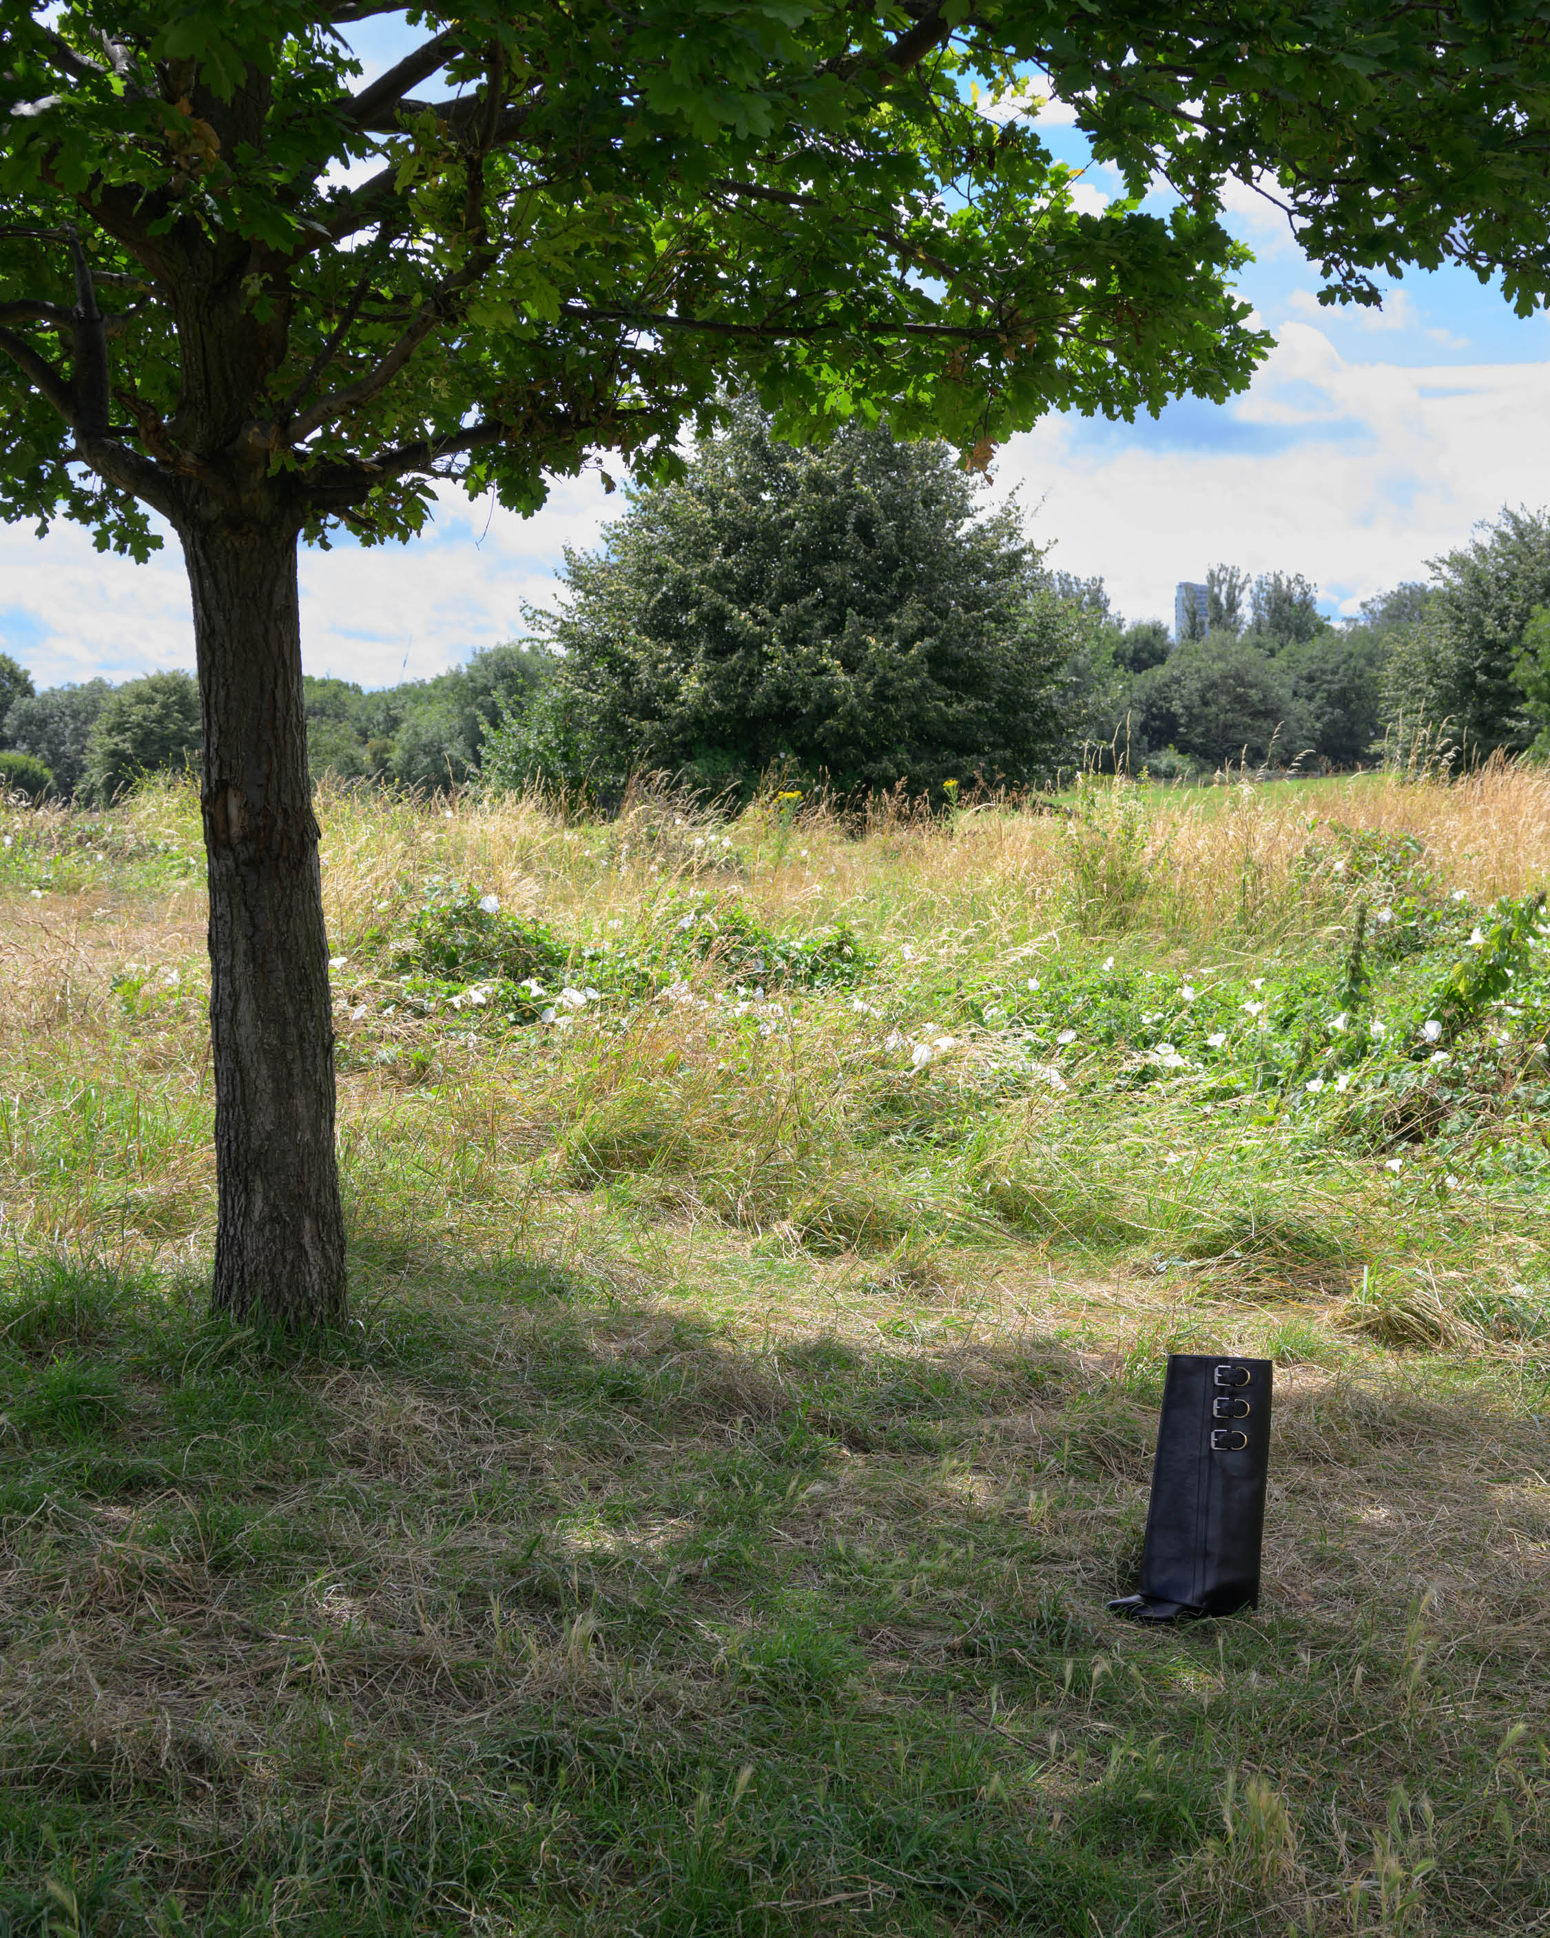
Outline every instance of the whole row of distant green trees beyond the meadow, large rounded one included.
{"label": "whole row of distant green trees beyond the meadow, large rounded one included", "polygon": [[[748,409],[678,483],[634,492],[599,550],[566,552],[568,599],[529,610],[531,638],[380,690],[308,678],[312,773],[944,795],[1081,762],[1550,758],[1550,514],[1504,510],[1430,572],[1333,624],[1300,574],[1219,564],[1174,640],[1050,570],[946,446],[851,424],[794,450]],[[198,748],[186,672],[35,692],[0,653],[6,789],[110,800]]]}

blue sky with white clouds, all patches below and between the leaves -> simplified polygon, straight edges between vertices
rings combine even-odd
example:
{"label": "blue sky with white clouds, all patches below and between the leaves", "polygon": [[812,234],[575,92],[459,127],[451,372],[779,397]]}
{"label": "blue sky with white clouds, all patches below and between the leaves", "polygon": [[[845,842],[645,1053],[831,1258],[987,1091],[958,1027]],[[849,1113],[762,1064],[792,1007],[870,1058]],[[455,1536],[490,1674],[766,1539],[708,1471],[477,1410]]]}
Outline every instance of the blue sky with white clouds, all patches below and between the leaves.
{"label": "blue sky with white clouds, all patches below and between the leaves", "polygon": [[[417,39],[393,17],[356,33],[366,79]],[[1089,207],[1120,192],[1068,109],[1044,109],[1038,126],[1062,161],[1087,165],[1077,194]],[[1515,318],[1500,291],[1457,269],[1405,277],[1378,312],[1321,308],[1318,271],[1279,211],[1234,186],[1228,225],[1254,250],[1240,293],[1277,345],[1248,391],[1135,424],[1054,413],[998,452],[990,494],[1017,492],[1052,568],[1102,576],[1126,618],[1170,618],[1174,583],[1217,562],[1302,572],[1341,618],[1426,578],[1428,558],[1504,504],[1550,500],[1544,314]],[[304,550],[306,671],[386,686],[513,638],[525,605],[560,597],[564,547],[595,545],[618,510],[585,475],[556,481],[531,519],[455,494],[409,547]],[[192,667],[176,541],[138,566],[68,525],[45,539],[0,529],[0,649],[39,686]]]}

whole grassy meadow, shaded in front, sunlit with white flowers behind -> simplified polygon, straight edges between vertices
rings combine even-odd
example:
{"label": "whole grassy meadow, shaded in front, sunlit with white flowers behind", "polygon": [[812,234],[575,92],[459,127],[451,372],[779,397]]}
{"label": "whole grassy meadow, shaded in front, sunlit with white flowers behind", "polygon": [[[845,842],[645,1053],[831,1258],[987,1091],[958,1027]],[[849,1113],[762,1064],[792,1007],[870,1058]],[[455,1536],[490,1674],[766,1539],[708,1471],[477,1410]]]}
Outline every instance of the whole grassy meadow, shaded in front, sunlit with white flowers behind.
{"label": "whole grassy meadow, shaded in front, sunlit with white flowers behind", "polygon": [[[194,797],[0,810],[0,1932],[1550,1932],[1550,775],[320,814],[285,1345]],[[1147,1634],[1178,1349],[1265,1595]]]}

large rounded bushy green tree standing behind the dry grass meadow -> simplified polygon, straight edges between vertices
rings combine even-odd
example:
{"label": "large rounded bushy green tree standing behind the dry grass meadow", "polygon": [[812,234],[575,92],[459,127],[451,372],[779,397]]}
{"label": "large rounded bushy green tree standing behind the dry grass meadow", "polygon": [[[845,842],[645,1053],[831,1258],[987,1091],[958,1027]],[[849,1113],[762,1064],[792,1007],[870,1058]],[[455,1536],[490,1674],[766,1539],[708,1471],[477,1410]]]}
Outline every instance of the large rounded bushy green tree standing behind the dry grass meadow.
{"label": "large rounded bushy green tree standing behind the dry grass meadow", "polygon": [[976,483],[942,444],[847,426],[796,450],[740,411],[601,552],[566,554],[570,599],[535,614],[554,671],[490,771],[748,793],[781,767],[843,795],[1037,779],[1083,609],[1015,506],[976,516]]}

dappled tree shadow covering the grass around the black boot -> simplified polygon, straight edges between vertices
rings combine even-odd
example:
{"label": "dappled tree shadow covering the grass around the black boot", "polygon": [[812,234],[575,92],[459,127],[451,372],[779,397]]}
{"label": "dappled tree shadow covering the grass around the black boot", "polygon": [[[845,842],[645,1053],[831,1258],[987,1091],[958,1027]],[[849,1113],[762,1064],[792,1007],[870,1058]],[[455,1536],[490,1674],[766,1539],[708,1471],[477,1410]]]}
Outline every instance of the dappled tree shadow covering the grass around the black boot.
{"label": "dappled tree shadow covering the grass around the black boot", "polygon": [[362,1267],[283,1349],[0,1287],[12,1930],[1292,1930],[1380,1837],[1480,1928],[1550,1907],[1500,1382],[1298,1368],[1263,1612],[1149,1636],[1133,1357]]}

